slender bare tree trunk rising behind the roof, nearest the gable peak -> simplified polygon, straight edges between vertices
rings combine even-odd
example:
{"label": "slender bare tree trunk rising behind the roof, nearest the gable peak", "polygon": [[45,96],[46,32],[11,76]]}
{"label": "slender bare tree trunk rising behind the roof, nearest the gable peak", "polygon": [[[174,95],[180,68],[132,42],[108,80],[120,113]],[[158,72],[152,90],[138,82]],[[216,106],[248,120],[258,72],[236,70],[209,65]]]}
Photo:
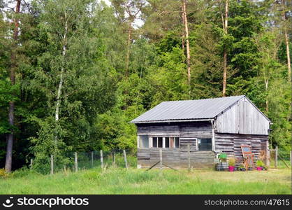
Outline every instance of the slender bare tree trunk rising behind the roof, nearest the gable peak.
{"label": "slender bare tree trunk rising behind the roof, nearest the gable peak", "polygon": [[[224,34],[227,35],[228,31],[228,0],[225,1],[225,20],[224,20]],[[227,78],[227,49],[224,46],[224,55],[223,55],[223,88],[222,88],[222,96],[226,96],[226,78]]]}

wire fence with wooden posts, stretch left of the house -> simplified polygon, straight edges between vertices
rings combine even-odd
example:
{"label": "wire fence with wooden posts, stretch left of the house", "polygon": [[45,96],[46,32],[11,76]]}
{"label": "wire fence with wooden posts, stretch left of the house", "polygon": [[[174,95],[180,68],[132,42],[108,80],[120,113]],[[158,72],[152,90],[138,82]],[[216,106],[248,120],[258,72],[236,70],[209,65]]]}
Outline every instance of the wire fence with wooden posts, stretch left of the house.
{"label": "wire fence with wooden posts, stretch left of the house", "polygon": [[[78,172],[83,169],[100,167],[136,167],[137,158],[133,151],[91,151],[69,152],[63,155],[50,155],[45,167],[45,174],[57,172]],[[34,160],[30,160],[30,167],[34,167]]]}

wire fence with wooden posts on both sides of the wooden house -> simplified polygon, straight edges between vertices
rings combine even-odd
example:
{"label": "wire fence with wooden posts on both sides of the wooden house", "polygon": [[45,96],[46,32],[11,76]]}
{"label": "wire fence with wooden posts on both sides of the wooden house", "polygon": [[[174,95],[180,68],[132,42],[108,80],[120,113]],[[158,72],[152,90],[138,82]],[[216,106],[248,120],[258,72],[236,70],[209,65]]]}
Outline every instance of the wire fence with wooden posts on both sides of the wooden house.
{"label": "wire fence with wooden posts on both sides of the wooden house", "polygon": [[[270,158],[268,162],[272,169],[291,169],[292,152],[270,149]],[[164,157],[165,158],[165,157]],[[161,156],[162,159],[162,156]],[[43,162],[43,173],[54,174],[57,172],[78,172],[83,169],[92,169],[99,167],[137,167],[137,154],[133,151],[91,151],[91,152],[69,152],[63,155],[50,155]],[[190,169],[190,158],[187,158],[188,168]],[[165,160],[163,160],[163,163]],[[30,167],[33,168],[34,160],[30,160]],[[163,165],[163,164],[162,164]],[[169,166],[168,166],[169,167]],[[171,167],[170,167],[171,168]]]}

